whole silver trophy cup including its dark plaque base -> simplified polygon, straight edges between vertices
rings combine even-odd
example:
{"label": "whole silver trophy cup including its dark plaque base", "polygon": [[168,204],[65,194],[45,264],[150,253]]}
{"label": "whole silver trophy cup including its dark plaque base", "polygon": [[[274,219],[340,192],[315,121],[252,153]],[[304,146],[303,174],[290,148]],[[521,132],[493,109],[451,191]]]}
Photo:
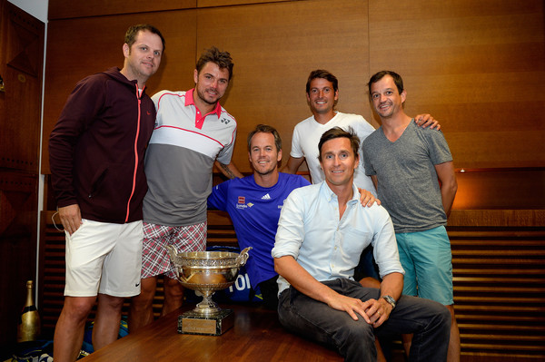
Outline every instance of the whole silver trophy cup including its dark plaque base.
{"label": "whole silver trophy cup including its dark plaque base", "polygon": [[233,327],[233,310],[222,309],[212,300],[216,290],[231,287],[239,269],[246,264],[248,251],[240,254],[228,251],[181,252],[167,246],[176,278],[184,288],[199,291],[203,301],[178,317],[178,332],[219,336]]}

